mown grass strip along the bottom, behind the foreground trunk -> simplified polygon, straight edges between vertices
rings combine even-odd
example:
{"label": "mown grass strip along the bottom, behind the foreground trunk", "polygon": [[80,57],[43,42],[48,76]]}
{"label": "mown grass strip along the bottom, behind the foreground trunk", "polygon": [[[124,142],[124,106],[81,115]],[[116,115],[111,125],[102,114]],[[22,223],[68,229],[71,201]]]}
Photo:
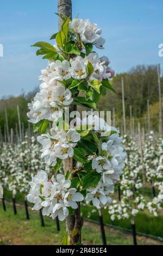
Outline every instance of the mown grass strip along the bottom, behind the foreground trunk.
{"label": "mown grass strip along the bottom, behind the foreground trunk", "polygon": [[[26,220],[23,205],[17,204],[17,215],[13,214],[12,204],[6,202],[7,211],[0,208],[0,244],[1,245],[60,245],[65,234],[65,222],[60,222],[61,231],[56,230],[55,221],[45,218],[45,227],[41,227],[39,212],[29,208],[30,220]],[[105,227],[108,245],[132,245],[130,234]],[[102,245],[99,225],[84,222],[82,230],[84,245]],[[137,236],[139,245],[161,245],[161,242]]]}

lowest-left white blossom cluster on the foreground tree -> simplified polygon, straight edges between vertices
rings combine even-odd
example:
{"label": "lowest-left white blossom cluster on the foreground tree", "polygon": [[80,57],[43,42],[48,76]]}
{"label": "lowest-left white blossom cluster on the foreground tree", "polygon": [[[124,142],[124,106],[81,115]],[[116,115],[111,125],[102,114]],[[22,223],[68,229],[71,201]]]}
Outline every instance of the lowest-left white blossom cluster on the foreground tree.
{"label": "lowest-left white blossom cluster on the foreground tree", "polygon": [[52,176],[52,179],[48,180],[47,173],[40,170],[29,184],[27,199],[34,203],[33,210],[43,208],[43,215],[52,218],[58,216],[60,221],[64,221],[68,216],[68,208],[77,209],[78,202],[84,199],[76,188],[71,188],[71,180],[65,180],[62,174],[57,174],[56,179]]}

